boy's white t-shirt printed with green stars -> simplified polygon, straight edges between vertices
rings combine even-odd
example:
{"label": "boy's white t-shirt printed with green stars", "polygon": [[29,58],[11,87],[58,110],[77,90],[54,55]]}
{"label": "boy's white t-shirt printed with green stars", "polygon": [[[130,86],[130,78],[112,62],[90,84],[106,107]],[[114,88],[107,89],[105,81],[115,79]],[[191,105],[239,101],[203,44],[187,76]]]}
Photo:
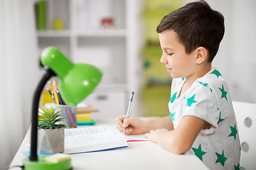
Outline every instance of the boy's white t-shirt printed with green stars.
{"label": "boy's white t-shirt printed with green stars", "polygon": [[177,98],[185,81],[184,78],[173,79],[171,85],[169,111],[174,129],[186,115],[196,116],[212,125],[199,132],[188,153],[196,154],[210,169],[239,169],[238,124],[222,75],[212,67]]}

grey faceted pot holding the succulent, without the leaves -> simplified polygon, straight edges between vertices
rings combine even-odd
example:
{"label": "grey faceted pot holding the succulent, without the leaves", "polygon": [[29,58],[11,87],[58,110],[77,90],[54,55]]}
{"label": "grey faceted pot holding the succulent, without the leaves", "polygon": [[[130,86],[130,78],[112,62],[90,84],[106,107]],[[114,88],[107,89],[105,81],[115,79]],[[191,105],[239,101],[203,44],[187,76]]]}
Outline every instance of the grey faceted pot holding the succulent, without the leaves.
{"label": "grey faceted pot holding the succulent, without the leaves", "polygon": [[64,129],[38,129],[38,152],[40,154],[64,152]]}

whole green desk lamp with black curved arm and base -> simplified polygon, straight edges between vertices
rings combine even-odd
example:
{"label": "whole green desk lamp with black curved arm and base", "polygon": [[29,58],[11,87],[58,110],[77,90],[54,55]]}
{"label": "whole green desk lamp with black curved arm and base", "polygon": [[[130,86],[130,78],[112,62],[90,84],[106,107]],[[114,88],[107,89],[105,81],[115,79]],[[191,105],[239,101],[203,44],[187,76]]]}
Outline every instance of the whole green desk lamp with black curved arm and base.
{"label": "whole green desk lamp with black curved arm and base", "polygon": [[31,155],[23,160],[25,169],[72,169],[71,160],[58,163],[43,161],[37,155],[38,137],[38,106],[43,87],[50,77],[58,76],[60,80],[60,94],[68,106],[76,106],[92,92],[102,78],[102,72],[90,64],[73,64],[58,49],[48,47],[43,50],[41,62],[46,72],[36,87],[32,103],[31,121]]}

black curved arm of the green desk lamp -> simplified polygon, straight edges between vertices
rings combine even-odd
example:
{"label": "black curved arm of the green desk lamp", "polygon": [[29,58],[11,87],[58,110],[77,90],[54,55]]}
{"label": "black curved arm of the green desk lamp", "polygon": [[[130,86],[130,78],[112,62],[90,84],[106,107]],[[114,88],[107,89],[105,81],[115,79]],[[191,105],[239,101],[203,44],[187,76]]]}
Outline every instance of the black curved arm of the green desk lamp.
{"label": "black curved arm of the green desk lamp", "polygon": [[37,144],[38,144],[38,106],[43,91],[43,87],[50,79],[50,77],[55,76],[56,74],[48,67],[45,67],[46,72],[43,74],[43,77],[39,81],[36,91],[33,95],[32,103],[32,120],[31,120],[31,155],[29,157],[30,161],[38,161],[37,155]]}

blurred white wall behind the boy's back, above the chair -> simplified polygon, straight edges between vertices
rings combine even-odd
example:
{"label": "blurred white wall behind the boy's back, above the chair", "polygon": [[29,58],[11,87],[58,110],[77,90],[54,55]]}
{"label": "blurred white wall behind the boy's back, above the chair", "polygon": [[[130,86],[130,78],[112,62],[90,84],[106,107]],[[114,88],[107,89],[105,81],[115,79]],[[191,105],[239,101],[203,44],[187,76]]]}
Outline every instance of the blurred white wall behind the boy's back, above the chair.
{"label": "blurred white wall behind the boy's back, above the chair", "polygon": [[233,101],[256,103],[256,1],[206,0],[225,17],[225,35],[213,61]]}

